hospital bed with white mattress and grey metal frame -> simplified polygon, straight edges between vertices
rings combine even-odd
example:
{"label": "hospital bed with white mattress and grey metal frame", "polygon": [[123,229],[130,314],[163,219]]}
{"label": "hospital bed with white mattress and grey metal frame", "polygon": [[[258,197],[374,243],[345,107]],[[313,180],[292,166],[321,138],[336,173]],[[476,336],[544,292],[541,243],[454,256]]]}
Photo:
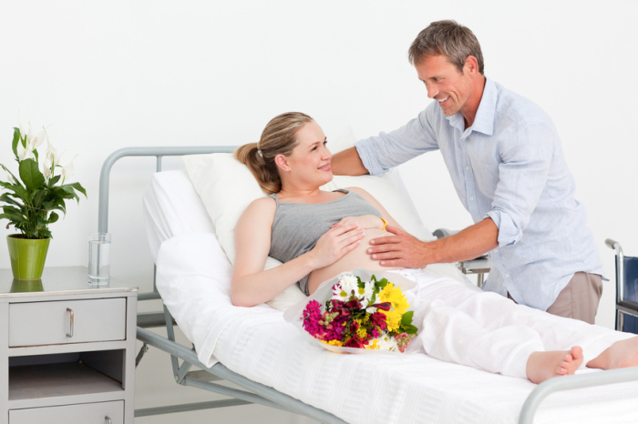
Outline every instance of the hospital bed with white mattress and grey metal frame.
{"label": "hospital bed with white mattress and grey metal frame", "polygon": [[[232,146],[129,147],[114,152],[100,176],[98,230],[108,231],[109,173],[119,158],[155,156],[157,171],[161,171],[163,156],[233,150]],[[151,293],[140,294],[139,299],[160,298],[161,293],[165,305],[161,324],[166,327],[167,337],[143,328],[160,325],[157,314],[140,317],[137,337],[143,347],[138,362],[146,348],[159,348],[170,355],[178,384],[230,399],[139,409],[137,417],[256,403],[325,423],[583,423],[600,422],[602,417],[605,422],[638,420],[638,368],[550,379],[536,386],[524,379],[489,374],[424,354],[400,358],[334,355],[305,343],[296,328],[283,322],[279,310],[266,305],[233,307],[229,296],[232,267],[220,247],[221,235],[210,219],[206,223],[208,217],[185,219],[180,215],[184,209],[203,210],[195,205],[198,199],[191,196],[194,189],[188,187],[184,176],[184,171],[158,172],[150,185],[155,196],[147,202],[145,195],[145,204],[157,200],[153,220],[157,226],[149,239],[151,247],[160,243],[155,257],[158,284],[154,283]],[[175,184],[178,179],[180,184]],[[228,184],[231,181],[232,177]],[[161,205],[160,200],[167,199],[169,204]],[[196,226],[198,219],[206,228],[199,232],[186,228]],[[170,234],[176,227],[183,232]],[[192,348],[175,341],[175,321],[193,342]],[[242,389],[219,384],[222,379]],[[604,387],[584,389],[591,386]]]}

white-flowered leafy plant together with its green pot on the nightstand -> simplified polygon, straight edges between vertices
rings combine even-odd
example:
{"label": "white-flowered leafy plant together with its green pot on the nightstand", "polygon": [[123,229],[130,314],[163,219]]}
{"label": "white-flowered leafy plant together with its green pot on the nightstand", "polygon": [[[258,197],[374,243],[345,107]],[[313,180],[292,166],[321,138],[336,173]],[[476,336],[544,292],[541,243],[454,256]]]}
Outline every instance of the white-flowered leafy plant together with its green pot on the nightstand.
{"label": "white-flowered leafy plant together with its green pot on the nightstand", "polygon": [[[37,147],[46,141],[46,157],[42,171],[39,167]],[[21,234],[6,237],[11,257],[11,269],[16,279],[37,279],[42,277],[46,252],[51,241],[49,224],[58,219],[55,211],[67,214],[65,200],[75,198],[79,202],[77,191],[87,197],[87,192],[79,183],[65,184],[67,177],[73,174],[73,159],[66,167],[59,165],[60,156],[48,140],[46,131],[35,134],[29,125],[28,132],[22,124],[14,128],[12,148],[18,165],[15,177],[3,164],[7,182],[0,181],[5,193],[0,196],[4,202],[0,218],[9,220]],[[58,175],[56,171],[60,169]]]}

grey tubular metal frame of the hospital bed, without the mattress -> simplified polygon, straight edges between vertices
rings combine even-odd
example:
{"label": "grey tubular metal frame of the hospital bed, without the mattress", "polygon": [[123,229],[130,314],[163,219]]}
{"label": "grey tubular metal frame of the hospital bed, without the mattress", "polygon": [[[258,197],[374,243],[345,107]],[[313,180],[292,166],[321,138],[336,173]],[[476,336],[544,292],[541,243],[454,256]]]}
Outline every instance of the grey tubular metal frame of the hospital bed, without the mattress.
{"label": "grey tubular metal frame of the hospital bed, without the mattress", "polygon": [[[104,165],[102,166],[99,177],[98,231],[105,233],[108,232],[108,183],[111,167],[113,167],[118,159],[126,156],[155,156],[157,162],[156,171],[160,172],[163,156],[232,153],[235,148],[236,146],[175,146],[125,147],[116,150],[107,157]],[[140,301],[154,299],[161,299],[160,293],[158,293],[155,285],[155,272],[153,273],[153,291],[148,293],[139,293],[138,297],[138,300]],[[261,383],[252,381],[251,379],[247,379],[242,375],[233,372],[229,368],[224,367],[224,365],[220,362],[210,368],[206,367],[197,358],[194,347],[187,348],[175,341],[175,321],[170,316],[168,308],[165,306],[163,308],[163,312],[138,314],[137,338],[143,343],[143,345],[136,359],[136,366],[144,356],[144,353],[148,351],[149,346],[159,348],[160,350],[170,354],[173,375],[178,384],[209,390],[214,393],[228,396],[231,399],[148,409],[135,409],[135,417],[146,417],[172,412],[223,408],[255,403],[271,408],[287,410],[323,423],[345,423],[343,419],[339,419],[323,409],[314,408],[305,404],[301,400],[294,399],[278,390],[264,386]],[[151,327],[165,327],[167,337],[164,338],[158,336],[146,329]],[[201,370],[191,371],[190,368],[193,366],[201,368]],[[245,390],[232,389],[215,383],[215,381],[219,380],[230,381]],[[638,380],[638,367],[566,376],[561,379],[549,379],[541,383],[536,389],[532,390],[520,411],[519,423],[531,424],[533,422],[536,409],[539,408],[542,400],[556,391],[602,386],[633,380]]]}

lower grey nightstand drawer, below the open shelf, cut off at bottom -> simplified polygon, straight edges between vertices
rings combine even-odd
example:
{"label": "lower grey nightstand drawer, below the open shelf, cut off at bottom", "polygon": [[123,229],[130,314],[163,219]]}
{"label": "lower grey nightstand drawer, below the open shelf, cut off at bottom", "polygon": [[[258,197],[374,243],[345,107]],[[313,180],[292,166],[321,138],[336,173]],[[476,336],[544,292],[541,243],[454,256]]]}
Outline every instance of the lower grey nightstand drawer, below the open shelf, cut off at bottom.
{"label": "lower grey nightstand drawer, below the open shelf, cut off at bottom", "polygon": [[124,423],[124,401],[83,403],[64,407],[11,409],[9,424],[112,424]]}

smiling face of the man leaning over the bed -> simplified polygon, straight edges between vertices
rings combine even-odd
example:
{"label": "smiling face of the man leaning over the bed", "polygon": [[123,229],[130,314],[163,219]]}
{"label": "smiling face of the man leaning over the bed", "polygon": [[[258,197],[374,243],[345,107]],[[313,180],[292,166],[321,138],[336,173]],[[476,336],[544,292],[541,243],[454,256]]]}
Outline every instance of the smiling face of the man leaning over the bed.
{"label": "smiling face of the man leaning over the bed", "polygon": [[463,113],[463,107],[472,95],[472,80],[467,65],[461,74],[446,56],[438,55],[424,57],[415,67],[418,79],[426,85],[427,96],[437,100],[446,116],[453,116],[458,111]]}

